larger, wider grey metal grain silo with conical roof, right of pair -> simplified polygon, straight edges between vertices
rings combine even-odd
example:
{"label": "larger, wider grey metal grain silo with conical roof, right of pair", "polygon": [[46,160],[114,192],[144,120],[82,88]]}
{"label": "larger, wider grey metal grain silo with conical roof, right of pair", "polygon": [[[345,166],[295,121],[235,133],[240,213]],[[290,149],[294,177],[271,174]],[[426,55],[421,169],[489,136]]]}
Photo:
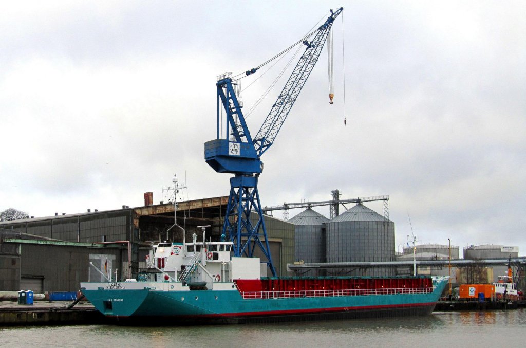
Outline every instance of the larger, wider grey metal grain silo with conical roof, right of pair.
{"label": "larger, wider grey metal grain silo with conical roof, right of pair", "polygon": [[[327,262],[395,260],[395,223],[361,203],[326,223]],[[367,273],[342,270],[349,275],[394,275],[395,270],[369,269]]]}

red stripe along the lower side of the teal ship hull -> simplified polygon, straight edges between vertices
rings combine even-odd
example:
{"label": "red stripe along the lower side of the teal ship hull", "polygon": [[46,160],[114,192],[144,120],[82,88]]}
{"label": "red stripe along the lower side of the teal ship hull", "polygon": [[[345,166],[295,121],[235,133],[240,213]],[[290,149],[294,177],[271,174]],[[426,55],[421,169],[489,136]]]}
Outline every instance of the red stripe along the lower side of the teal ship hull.
{"label": "red stripe along the lower side of the teal ship hull", "polygon": [[363,310],[382,310],[382,309],[404,309],[413,307],[433,306],[435,302],[429,303],[408,303],[408,304],[391,304],[378,306],[359,306],[359,307],[333,307],[333,308],[313,308],[305,310],[285,310],[285,311],[263,311],[263,312],[239,312],[239,313],[214,313],[195,315],[198,317],[225,317],[225,316],[265,316],[265,315],[286,315],[286,314],[305,314],[305,313],[330,313],[330,312],[347,312]]}

